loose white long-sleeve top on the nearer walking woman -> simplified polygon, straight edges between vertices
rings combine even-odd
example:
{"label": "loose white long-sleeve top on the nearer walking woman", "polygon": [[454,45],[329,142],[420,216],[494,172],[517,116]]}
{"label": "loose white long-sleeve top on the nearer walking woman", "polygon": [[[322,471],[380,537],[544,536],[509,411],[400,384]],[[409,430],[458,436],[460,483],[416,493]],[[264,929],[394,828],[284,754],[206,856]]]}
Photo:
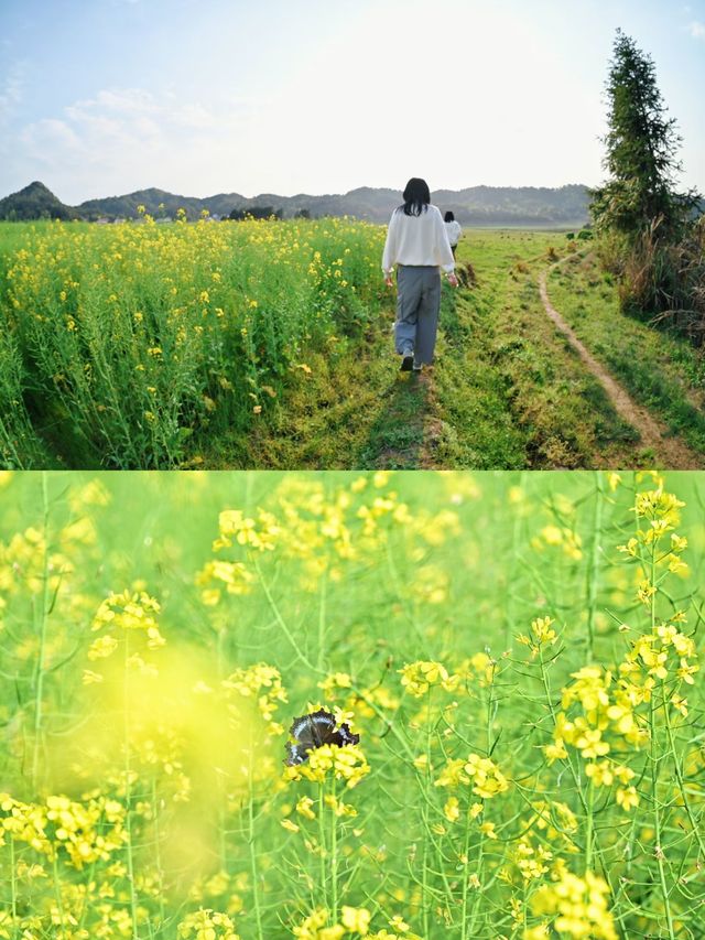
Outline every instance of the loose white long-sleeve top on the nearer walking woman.
{"label": "loose white long-sleeve top on the nearer walking woman", "polygon": [[455,261],[441,210],[427,206],[421,215],[405,215],[394,209],[387,229],[382,271],[391,273],[394,264],[425,264],[453,271]]}

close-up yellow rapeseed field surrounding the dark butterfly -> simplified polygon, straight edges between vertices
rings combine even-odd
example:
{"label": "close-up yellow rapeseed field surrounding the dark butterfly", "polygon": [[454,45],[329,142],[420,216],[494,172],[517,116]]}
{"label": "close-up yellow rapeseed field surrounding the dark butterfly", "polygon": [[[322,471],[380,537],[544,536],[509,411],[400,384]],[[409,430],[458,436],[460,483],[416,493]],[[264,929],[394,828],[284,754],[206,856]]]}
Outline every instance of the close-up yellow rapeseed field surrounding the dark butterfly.
{"label": "close-up yellow rapeseed field surrounding the dark butterfly", "polygon": [[701,475],[0,485],[0,938],[703,937]]}

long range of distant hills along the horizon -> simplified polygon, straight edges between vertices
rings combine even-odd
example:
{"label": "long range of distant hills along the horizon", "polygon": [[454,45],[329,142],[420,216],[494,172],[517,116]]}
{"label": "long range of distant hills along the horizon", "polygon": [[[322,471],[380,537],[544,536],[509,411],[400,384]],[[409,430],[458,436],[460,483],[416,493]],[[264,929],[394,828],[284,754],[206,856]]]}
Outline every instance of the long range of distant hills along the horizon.
{"label": "long range of distant hills along the horizon", "polygon": [[[577,227],[588,220],[587,188],[577,184],[560,188],[533,186],[470,186],[457,192],[438,190],[432,194],[433,202],[442,210],[453,209],[463,225],[469,226],[523,226]],[[188,218],[197,218],[204,208],[212,214],[228,216],[232,209],[254,206],[272,206],[280,209],[284,218],[306,212],[312,217],[350,215],[370,222],[387,222],[394,206],[401,202],[395,190],[362,186],[343,195],[278,196],[262,193],[248,198],[240,193],[218,193],[199,199],[194,196],[177,196],[164,190],[140,190],[124,196],[88,199],[79,206],[66,206],[42,183],[32,183],[19,193],[0,199],[0,218],[137,218],[137,207],[143,205],[154,217],[174,217],[176,210],[185,209]]]}

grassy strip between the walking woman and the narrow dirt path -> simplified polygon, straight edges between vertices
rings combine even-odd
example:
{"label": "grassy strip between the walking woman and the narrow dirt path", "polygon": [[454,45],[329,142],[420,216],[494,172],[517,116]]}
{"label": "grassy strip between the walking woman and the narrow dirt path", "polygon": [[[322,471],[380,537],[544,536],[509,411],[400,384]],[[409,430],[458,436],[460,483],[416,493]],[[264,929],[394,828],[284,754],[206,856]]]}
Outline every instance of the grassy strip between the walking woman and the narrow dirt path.
{"label": "grassy strip between the walking woman and the narrow dirt path", "polygon": [[632,429],[555,334],[536,278],[561,236],[470,233],[478,287],[462,291],[444,327],[452,355],[437,369],[440,408],[458,435],[451,466],[629,465]]}

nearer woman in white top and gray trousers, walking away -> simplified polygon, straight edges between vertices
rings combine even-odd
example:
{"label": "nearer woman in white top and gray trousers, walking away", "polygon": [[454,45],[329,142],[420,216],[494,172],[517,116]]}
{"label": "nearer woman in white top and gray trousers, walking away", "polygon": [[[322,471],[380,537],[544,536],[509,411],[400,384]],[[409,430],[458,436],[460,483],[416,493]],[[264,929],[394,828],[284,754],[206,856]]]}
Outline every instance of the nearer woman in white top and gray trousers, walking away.
{"label": "nearer woman in white top and gray trousers, walking away", "polygon": [[406,183],[404,203],[392,213],[382,255],[382,271],[392,287],[397,266],[394,344],[404,372],[433,363],[441,309],[441,271],[457,288],[455,261],[441,210],[431,205],[424,180]]}

